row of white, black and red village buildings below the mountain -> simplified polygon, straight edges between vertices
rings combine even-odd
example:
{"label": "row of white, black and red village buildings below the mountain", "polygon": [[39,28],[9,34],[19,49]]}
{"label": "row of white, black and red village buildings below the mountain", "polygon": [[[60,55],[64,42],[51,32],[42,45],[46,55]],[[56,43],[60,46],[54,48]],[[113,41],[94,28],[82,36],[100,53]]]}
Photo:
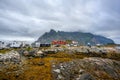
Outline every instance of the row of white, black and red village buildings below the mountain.
{"label": "row of white, black and red village buildings below the mountain", "polygon": [[[39,48],[39,47],[50,47],[50,46],[59,47],[61,45],[67,47],[83,46],[80,45],[77,41],[73,41],[73,40],[53,40],[51,43],[41,43],[41,42],[29,43],[27,41],[0,41],[0,49],[22,48],[22,47]],[[101,46],[101,45],[102,44],[96,44],[95,46]],[[88,43],[86,46],[92,46],[92,45]]]}

